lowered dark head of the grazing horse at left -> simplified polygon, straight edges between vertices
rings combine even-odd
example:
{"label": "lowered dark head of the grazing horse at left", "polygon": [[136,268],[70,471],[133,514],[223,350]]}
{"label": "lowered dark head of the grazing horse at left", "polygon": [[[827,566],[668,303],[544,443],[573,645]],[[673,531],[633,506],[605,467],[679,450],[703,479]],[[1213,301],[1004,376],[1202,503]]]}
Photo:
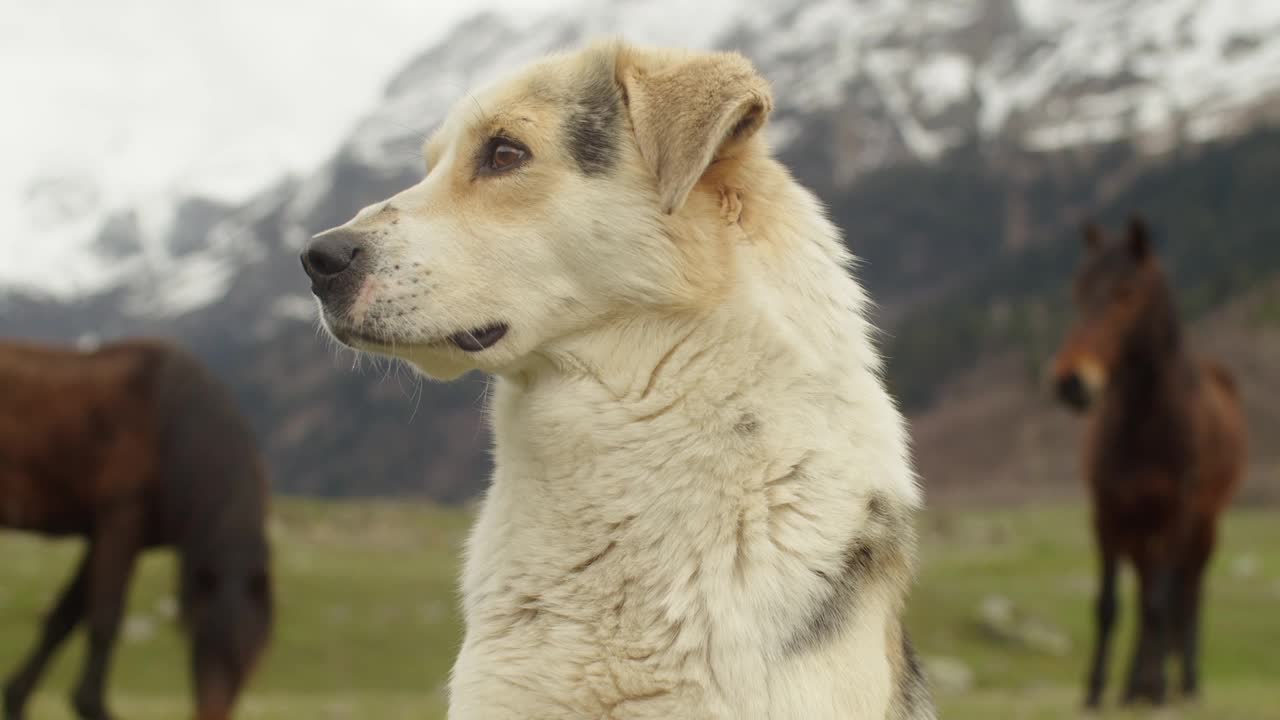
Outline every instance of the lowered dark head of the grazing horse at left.
{"label": "lowered dark head of the grazing horse at left", "polygon": [[271,634],[265,543],[223,544],[191,557],[183,568],[182,594],[197,720],[228,720]]}

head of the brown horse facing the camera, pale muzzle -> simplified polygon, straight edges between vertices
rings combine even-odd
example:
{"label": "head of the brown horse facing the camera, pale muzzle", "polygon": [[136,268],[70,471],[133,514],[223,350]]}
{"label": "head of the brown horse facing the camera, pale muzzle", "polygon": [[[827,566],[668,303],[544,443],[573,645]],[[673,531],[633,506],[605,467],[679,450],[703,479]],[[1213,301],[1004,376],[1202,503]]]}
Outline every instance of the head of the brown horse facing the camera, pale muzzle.
{"label": "head of the brown horse facing the camera, pale muzzle", "polygon": [[1089,223],[1084,247],[1071,288],[1075,323],[1052,372],[1059,400],[1078,411],[1089,407],[1134,345],[1149,334],[1155,314],[1170,306],[1164,272],[1140,219],[1130,219],[1120,238],[1108,238]]}

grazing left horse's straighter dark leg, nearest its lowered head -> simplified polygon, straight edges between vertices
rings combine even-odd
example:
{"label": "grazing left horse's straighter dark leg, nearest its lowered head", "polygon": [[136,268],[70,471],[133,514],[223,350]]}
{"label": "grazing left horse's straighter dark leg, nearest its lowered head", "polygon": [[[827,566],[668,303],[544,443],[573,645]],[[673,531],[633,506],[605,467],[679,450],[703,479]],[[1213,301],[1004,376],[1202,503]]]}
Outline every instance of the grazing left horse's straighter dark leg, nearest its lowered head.
{"label": "grazing left horse's straighter dark leg, nearest its lowered head", "polygon": [[88,559],[88,655],[73,702],[82,720],[109,720],[104,696],[111,648],[120,629],[133,566],[142,548],[141,512],[122,509],[101,519]]}

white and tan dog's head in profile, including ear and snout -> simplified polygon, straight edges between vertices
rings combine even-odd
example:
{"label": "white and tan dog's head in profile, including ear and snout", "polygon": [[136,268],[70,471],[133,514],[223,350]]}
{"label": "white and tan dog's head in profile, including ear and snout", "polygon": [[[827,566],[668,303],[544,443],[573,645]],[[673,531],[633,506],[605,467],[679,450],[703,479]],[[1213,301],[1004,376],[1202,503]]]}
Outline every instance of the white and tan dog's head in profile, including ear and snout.
{"label": "white and tan dog's head in profile, including ear and snout", "polygon": [[449,379],[705,302],[731,272],[722,168],[763,154],[769,108],[740,55],[613,42],[466,96],[420,183],[302,252],[325,325]]}

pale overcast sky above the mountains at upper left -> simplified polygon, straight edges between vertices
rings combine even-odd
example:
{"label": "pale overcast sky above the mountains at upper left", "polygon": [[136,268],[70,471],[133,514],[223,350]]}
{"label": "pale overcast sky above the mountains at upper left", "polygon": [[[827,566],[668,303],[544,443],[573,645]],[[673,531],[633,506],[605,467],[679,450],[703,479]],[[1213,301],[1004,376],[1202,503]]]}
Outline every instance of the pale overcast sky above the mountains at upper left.
{"label": "pale overcast sky above the mountains at upper left", "polygon": [[[0,0],[0,234],[32,184],[99,206],[242,199],[317,164],[388,77],[462,17],[566,0]],[[159,200],[159,199],[157,199]],[[63,208],[64,209],[64,208]]]}

